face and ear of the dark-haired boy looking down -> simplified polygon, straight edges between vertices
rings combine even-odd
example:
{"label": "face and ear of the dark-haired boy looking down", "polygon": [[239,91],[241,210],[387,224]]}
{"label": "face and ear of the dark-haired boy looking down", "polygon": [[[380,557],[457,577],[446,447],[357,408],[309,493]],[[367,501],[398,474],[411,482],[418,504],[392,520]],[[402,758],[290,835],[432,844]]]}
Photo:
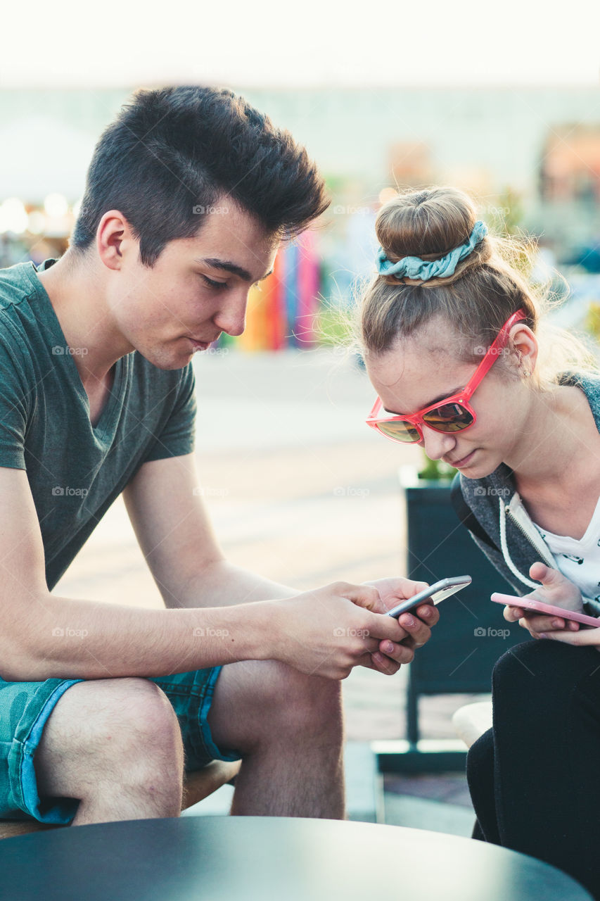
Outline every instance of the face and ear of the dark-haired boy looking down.
{"label": "face and ear of the dark-haired boy looking down", "polygon": [[169,241],[152,268],[141,264],[126,227],[119,265],[109,267],[114,323],[159,369],[181,369],[221,332],[240,335],[250,286],[273,268],[279,242],[272,234],[231,201],[211,209],[199,217],[197,235]]}

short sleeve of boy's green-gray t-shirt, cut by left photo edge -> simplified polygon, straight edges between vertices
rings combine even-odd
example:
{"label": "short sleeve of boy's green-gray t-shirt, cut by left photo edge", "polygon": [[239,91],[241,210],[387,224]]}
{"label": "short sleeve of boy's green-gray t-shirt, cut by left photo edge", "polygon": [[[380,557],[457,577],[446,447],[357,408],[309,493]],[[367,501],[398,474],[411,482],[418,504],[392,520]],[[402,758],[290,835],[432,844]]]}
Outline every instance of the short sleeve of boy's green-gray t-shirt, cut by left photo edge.
{"label": "short sleeve of boy's green-gray t-shirt, cut by left photo edge", "polygon": [[0,466],[27,469],[25,433],[33,386],[27,387],[18,338],[0,317]]}

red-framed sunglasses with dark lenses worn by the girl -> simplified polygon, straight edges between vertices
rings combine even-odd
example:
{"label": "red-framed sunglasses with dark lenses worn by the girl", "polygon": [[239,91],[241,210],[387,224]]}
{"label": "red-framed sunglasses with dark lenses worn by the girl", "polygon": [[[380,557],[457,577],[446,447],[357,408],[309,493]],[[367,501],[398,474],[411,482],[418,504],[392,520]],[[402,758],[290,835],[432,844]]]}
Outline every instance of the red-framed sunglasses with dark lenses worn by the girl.
{"label": "red-framed sunglasses with dark lenses worn by the girl", "polygon": [[446,397],[437,404],[426,406],[418,413],[392,416],[389,419],[377,418],[377,413],[382,407],[381,398],[377,397],[373,409],[368,414],[367,424],[372,429],[377,429],[390,441],[401,441],[402,443],[423,441],[423,423],[430,429],[434,429],[435,432],[464,432],[465,429],[469,429],[477,419],[475,410],[468,403],[473,392],[489,369],[494,366],[499,351],[505,347],[506,341],[508,341],[508,334],[514,323],[526,318],[527,314],[524,310],[517,310],[506,320],[494,343],[487,349],[486,356],[477,366],[473,378],[458,394]]}

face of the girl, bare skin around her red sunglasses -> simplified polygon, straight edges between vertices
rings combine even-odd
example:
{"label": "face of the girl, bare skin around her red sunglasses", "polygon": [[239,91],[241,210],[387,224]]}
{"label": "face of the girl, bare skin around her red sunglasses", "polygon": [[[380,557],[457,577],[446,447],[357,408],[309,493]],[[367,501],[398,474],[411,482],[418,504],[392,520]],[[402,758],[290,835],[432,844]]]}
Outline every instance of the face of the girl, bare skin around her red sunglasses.
{"label": "face of the girl, bare skin around her red sunglasses", "polygon": [[[384,410],[390,415],[413,414],[464,388],[477,363],[461,360],[458,348],[458,334],[436,317],[410,338],[396,341],[391,350],[367,354],[368,378]],[[507,348],[500,355],[510,352]],[[423,441],[415,443],[428,457],[450,463],[467,478],[484,478],[501,462],[522,456],[531,392],[506,371],[507,364],[516,373],[514,360],[496,361],[476,388],[470,405],[477,418],[468,429],[443,433],[423,423]]]}

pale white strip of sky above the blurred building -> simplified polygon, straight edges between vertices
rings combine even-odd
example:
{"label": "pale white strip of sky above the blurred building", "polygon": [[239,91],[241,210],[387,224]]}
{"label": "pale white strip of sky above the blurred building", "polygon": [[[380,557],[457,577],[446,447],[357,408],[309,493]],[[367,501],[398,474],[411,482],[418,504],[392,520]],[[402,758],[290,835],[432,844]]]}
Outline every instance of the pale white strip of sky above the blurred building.
{"label": "pale white strip of sky above the blurred building", "polygon": [[593,85],[599,26],[598,0],[11,0],[0,88]]}

